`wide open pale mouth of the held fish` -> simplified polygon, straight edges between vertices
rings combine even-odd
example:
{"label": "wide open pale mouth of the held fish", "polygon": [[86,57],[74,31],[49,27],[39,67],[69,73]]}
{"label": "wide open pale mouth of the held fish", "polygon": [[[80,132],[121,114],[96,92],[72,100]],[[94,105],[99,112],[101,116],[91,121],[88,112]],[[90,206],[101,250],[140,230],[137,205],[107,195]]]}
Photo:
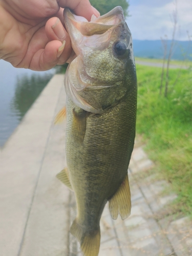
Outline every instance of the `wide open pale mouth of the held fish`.
{"label": "wide open pale mouth of the held fish", "polygon": [[[72,48],[76,55],[79,55],[80,53],[76,46],[80,45],[82,41],[88,46],[95,46],[93,41],[96,37],[99,37],[100,42],[109,41],[111,32],[114,28],[125,23],[123,10],[120,6],[115,7],[110,12],[99,17],[92,15],[90,22],[82,16],[73,14],[68,8],[65,8],[63,17],[65,27],[71,38]],[[91,37],[95,39],[90,39]],[[90,44],[89,40],[91,40]]]}

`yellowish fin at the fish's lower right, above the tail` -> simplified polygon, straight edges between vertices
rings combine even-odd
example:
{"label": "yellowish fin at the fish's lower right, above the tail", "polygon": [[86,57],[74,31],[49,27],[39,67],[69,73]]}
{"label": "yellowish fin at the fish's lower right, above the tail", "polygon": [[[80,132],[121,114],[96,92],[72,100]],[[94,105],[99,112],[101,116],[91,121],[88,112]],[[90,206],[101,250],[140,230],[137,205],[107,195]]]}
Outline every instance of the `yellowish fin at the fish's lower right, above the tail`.
{"label": "yellowish fin at the fish's lower right, above the tail", "polygon": [[131,214],[131,193],[128,175],[118,188],[116,194],[109,200],[110,214],[114,220],[120,214],[121,219],[129,217]]}

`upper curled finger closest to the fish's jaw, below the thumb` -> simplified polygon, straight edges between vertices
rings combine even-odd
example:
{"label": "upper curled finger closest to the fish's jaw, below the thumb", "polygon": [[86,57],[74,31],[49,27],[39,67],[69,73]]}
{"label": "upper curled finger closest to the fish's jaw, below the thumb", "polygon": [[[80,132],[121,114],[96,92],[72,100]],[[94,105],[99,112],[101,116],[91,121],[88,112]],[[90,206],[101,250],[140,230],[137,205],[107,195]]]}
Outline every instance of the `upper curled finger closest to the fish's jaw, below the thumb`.
{"label": "upper curled finger closest to the fish's jaw, below the thumb", "polygon": [[48,20],[48,22],[46,23],[45,31],[49,40],[60,40],[61,42],[63,42],[64,40],[66,41],[65,48],[62,51],[58,62],[59,65],[65,63],[69,59],[72,52],[69,34],[62,26],[60,20],[56,17],[50,18]]}

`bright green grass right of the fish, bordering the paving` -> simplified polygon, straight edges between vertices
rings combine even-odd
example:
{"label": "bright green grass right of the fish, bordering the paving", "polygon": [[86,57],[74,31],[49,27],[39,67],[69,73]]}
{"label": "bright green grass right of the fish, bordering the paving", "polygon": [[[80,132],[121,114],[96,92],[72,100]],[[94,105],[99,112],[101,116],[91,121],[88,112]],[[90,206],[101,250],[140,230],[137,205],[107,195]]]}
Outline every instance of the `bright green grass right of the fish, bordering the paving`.
{"label": "bright green grass right of the fish, bordering the paving", "polygon": [[137,134],[142,135],[145,150],[156,163],[154,171],[172,183],[178,210],[191,216],[192,72],[170,70],[169,74],[172,93],[165,98],[159,95],[161,68],[137,65]]}

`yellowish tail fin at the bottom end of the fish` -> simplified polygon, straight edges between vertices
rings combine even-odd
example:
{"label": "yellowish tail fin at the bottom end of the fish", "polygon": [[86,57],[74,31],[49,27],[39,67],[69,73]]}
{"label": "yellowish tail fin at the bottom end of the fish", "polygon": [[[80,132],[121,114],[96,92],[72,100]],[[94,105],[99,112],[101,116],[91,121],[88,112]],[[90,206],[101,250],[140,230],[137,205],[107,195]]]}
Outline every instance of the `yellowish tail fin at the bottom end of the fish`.
{"label": "yellowish tail fin at the bottom end of the fish", "polygon": [[98,256],[100,247],[100,228],[94,233],[88,234],[84,232],[83,228],[75,219],[70,231],[80,242],[80,247],[84,256]]}

